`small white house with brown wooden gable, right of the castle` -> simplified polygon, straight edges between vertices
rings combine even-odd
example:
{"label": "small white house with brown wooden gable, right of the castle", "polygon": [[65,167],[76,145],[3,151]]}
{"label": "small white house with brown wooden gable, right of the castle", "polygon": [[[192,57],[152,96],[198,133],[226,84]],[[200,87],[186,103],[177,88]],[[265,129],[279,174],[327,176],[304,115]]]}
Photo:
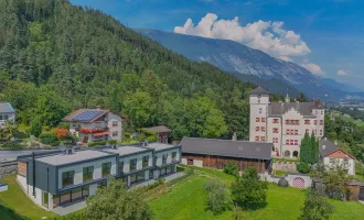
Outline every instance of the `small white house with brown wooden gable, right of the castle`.
{"label": "small white house with brown wooden gable, right of the castle", "polygon": [[355,175],[355,158],[331,141],[320,141],[320,158],[326,166],[342,165],[347,174]]}

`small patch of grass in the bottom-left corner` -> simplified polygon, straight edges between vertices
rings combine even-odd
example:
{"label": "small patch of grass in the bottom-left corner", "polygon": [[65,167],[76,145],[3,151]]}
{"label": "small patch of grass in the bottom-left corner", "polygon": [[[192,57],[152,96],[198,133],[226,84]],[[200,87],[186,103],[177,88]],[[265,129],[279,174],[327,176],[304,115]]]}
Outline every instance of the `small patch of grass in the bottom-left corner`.
{"label": "small patch of grass in the bottom-left corner", "polygon": [[1,179],[1,182],[9,185],[9,189],[7,191],[0,193],[1,220],[39,220],[43,217],[56,216],[51,211],[46,211],[40,208],[33,201],[31,201],[15,182],[15,175],[8,176]]}

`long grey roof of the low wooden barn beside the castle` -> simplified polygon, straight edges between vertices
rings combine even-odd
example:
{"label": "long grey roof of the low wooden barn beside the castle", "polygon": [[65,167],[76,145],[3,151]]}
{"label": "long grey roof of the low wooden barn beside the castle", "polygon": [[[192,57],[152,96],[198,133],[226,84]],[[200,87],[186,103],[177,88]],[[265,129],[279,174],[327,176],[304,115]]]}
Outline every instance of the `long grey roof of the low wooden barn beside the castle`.
{"label": "long grey roof of the low wooden barn beside the castle", "polygon": [[270,160],[272,143],[183,138],[182,153]]}

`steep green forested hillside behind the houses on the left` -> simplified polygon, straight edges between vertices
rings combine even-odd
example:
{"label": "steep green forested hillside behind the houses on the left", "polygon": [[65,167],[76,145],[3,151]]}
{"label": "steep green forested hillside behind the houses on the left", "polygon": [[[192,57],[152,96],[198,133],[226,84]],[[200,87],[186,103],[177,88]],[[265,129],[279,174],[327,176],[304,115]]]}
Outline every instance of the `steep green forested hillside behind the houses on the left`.
{"label": "steep green forested hillside behind the houses on the left", "polygon": [[254,87],[190,62],[100,11],[65,0],[0,0],[0,100],[22,124],[55,127],[101,106],[129,129],[167,124],[173,138],[248,134]]}

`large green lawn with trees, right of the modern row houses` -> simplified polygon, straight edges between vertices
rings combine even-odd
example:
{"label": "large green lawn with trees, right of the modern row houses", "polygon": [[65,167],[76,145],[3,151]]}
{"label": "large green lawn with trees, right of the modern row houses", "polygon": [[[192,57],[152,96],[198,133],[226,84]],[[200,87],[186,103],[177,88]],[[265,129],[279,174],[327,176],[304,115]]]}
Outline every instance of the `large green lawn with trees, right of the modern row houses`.
{"label": "large green lawn with trees, right of the modern row houses", "polygon": [[[204,183],[213,175],[224,180],[228,186],[234,177],[223,172],[196,168],[197,174],[171,186],[159,198],[149,201],[151,209],[156,213],[156,219],[232,219],[232,212],[226,211],[223,215],[214,216],[206,207],[207,195],[203,193]],[[204,175],[205,174],[205,175]],[[244,219],[295,219],[297,220],[301,207],[303,206],[306,190],[297,188],[280,188],[277,185],[269,184],[267,205],[260,209],[244,211]],[[358,202],[343,202],[330,200],[335,207],[332,220],[362,219],[364,216],[364,206]]]}

